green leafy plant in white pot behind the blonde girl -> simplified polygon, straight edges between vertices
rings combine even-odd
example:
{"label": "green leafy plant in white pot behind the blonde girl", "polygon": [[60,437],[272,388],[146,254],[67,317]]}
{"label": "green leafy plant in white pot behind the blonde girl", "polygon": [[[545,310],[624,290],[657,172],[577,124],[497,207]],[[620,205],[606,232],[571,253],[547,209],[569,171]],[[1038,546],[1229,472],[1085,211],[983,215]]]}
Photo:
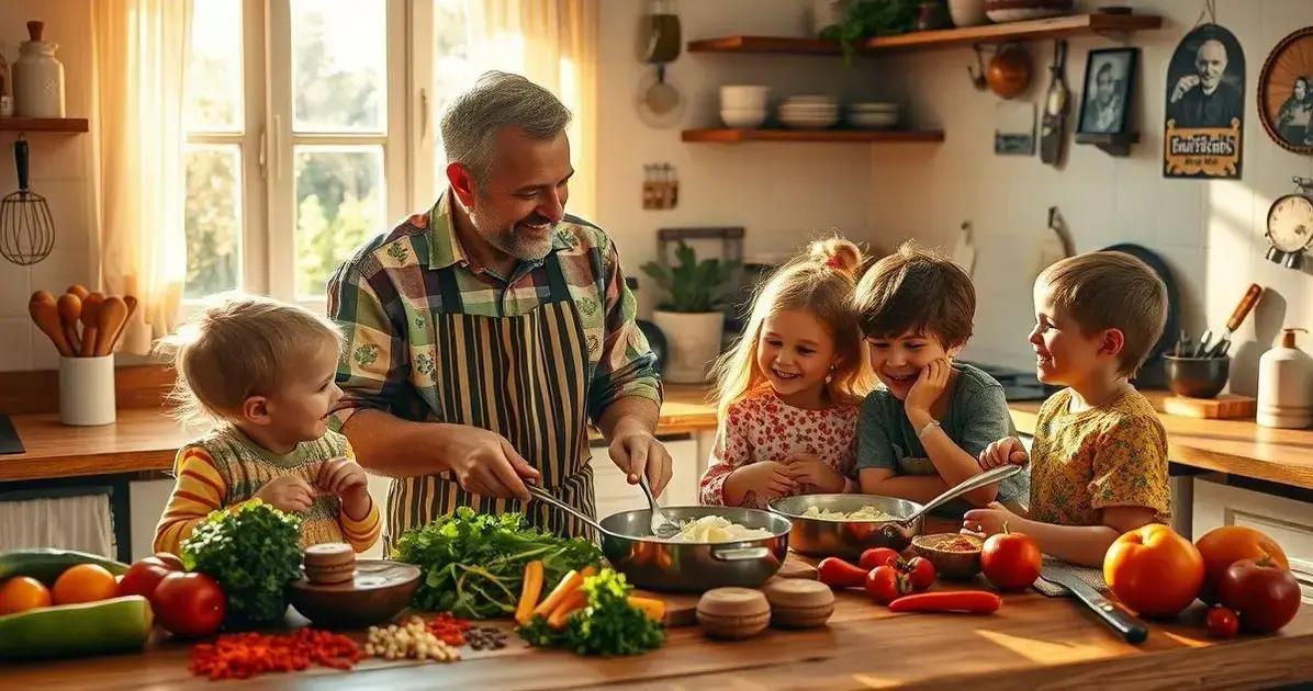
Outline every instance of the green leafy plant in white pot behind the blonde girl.
{"label": "green leafy plant in white pot behind the blonde girl", "polygon": [[653,321],[666,334],[668,354],[662,376],[675,384],[701,384],[721,353],[725,337],[725,288],[738,270],[737,261],[697,261],[693,248],[680,241],[676,262],[650,261],[642,266],[668,299],[653,312]]}

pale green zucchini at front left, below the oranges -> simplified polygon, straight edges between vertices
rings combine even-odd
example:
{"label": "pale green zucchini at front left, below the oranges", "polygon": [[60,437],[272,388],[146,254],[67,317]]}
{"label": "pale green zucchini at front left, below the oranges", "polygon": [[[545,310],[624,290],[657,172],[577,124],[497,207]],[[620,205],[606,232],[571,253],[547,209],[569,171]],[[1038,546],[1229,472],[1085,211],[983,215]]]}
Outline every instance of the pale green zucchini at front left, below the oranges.
{"label": "pale green zucchini at front left, below the oranges", "polygon": [[155,615],[140,595],[56,604],[0,616],[0,660],[140,650]]}

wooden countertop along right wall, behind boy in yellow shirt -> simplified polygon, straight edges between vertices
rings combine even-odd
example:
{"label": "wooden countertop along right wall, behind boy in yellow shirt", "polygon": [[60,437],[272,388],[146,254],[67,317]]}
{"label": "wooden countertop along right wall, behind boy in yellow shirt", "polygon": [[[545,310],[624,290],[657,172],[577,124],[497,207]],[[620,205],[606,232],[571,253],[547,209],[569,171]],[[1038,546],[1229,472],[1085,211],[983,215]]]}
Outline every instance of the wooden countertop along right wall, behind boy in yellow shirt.
{"label": "wooden countertop along right wall, behind boy in yellow shirt", "polygon": [[[1145,392],[1155,408],[1163,392]],[[1040,403],[1014,403],[1012,424],[1035,433]],[[1253,420],[1200,420],[1159,412],[1173,463],[1313,489],[1313,430],[1260,427]]]}

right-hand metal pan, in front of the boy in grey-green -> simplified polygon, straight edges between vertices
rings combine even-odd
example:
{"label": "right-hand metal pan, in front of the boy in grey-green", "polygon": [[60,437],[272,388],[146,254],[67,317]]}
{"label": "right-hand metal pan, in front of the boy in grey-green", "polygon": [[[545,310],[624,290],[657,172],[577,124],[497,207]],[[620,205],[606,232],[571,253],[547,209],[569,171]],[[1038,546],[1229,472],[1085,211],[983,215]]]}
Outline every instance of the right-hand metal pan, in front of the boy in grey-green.
{"label": "right-hand metal pan, in front of the boy in grey-green", "polygon": [[889,547],[902,552],[920,534],[924,518],[907,524],[897,521],[826,521],[802,515],[811,506],[831,511],[856,511],[864,506],[892,515],[911,515],[920,505],[876,494],[798,494],[771,502],[771,510],[793,523],[789,544],[800,555],[856,559],[872,547]]}

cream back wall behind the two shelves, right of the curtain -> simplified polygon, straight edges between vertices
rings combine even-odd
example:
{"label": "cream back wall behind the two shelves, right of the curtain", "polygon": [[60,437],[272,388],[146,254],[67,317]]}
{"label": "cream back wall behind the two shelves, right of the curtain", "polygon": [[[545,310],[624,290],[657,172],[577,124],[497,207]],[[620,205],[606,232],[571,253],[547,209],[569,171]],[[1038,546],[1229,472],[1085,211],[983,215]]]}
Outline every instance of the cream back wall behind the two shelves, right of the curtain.
{"label": "cream back wall behind the two shelves, right of the curtain", "polygon": [[[872,237],[868,224],[872,148],[868,144],[685,144],[680,130],[720,125],[722,84],[767,84],[772,101],[797,93],[860,98],[873,90],[872,66],[844,67],[835,58],[688,54],[667,69],[688,101],[684,122],[667,130],[639,119],[634,100],[653,67],[639,62],[638,31],[646,3],[601,3],[599,47],[599,169],[595,219],[614,237],[625,271],[639,277],[643,311],[656,302],[639,271],[653,258],[656,229],[743,226],[746,253],[789,252],[830,227],[853,239]],[[725,34],[804,35],[805,0],[685,0],[679,3],[684,41]],[[902,144],[909,157],[934,146]],[[671,163],[679,172],[679,207],[645,211],[645,163]],[[699,248],[701,250],[701,248]],[[708,248],[710,249],[710,248]]]}

